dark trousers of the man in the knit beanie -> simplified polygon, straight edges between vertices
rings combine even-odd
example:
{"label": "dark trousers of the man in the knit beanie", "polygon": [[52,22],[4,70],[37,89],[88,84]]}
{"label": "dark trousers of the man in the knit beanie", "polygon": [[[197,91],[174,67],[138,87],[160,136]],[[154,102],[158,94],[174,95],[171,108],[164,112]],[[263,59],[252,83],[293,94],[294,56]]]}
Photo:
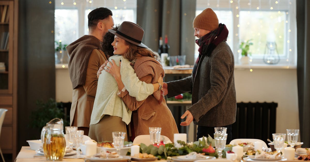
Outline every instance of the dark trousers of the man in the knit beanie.
{"label": "dark trousers of the man in the knit beanie", "polygon": [[[226,127],[227,128],[227,140],[226,140],[226,144],[229,144],[229,142],[232,140],[232,124],[227,125],[227,126],[221,126],[221,127]],[[204,137],[208,137],[208,134],[214,138],[214,128],[215,127],[205,127],[205,126],[200,126],[198,125],[197,128],[197,141],[199,138],[201,138],[202,136]]]}

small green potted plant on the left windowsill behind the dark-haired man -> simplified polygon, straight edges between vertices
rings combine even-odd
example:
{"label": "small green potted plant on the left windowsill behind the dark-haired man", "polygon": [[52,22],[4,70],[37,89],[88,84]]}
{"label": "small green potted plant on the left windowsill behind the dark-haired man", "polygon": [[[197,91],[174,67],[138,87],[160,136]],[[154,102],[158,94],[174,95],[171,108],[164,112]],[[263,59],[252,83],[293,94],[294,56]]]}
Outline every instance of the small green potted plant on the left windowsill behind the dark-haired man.
{"label": "small green potted plant on the left windowsill behind the dark-haired man", "polygon": [[67,44],[62,44],[61,41],[55,41],[55,64],[69,62],[69,56],[66,47]]}

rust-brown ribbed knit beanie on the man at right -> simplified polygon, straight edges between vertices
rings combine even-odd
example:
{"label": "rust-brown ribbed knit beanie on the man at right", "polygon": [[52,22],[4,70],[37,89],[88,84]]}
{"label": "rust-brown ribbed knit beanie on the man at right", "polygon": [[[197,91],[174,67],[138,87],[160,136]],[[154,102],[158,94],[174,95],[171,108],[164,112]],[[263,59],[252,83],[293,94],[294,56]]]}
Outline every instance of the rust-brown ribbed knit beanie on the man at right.
{"label": "rust-brown ribbed knit beanie on the man at right", "polygon": [[193,21],[193,28],[215,30],[219,27],[219,19],[211,8],[203,10]]}

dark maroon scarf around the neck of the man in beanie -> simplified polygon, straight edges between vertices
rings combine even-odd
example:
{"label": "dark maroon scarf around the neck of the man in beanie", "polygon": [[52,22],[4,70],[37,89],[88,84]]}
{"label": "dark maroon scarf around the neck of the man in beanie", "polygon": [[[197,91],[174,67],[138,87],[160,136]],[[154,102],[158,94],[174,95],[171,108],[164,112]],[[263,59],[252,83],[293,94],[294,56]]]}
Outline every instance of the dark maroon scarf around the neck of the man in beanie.
{"label": "dark maroon scarf around the neck of the man in beanie", "polygon": [[199,56],[193,68],[193,73],[192,73],[193,79],[196,76],[197,66],[198,66],[201,56],[206,55],[209,57],[212,51],[215,49],[215,47],[219,43],[227,40],[227,36],[228,36],[228,29],[226,28],[226,25],[220,23],[218,29],[210,31],[208,34],[196,40],[196,43],[199,46],[198,48]]}

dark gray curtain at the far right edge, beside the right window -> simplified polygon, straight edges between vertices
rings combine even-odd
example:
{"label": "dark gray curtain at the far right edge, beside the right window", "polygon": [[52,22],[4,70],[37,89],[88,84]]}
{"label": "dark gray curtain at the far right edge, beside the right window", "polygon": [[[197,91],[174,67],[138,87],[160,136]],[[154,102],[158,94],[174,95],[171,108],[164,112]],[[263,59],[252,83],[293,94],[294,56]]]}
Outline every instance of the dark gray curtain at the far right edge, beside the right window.
{"label": "dark gray curtain at the far right edge, beside the right window", "polygon": [[297,0],[297,87],[300,141],[310,147],[310,1]]}

